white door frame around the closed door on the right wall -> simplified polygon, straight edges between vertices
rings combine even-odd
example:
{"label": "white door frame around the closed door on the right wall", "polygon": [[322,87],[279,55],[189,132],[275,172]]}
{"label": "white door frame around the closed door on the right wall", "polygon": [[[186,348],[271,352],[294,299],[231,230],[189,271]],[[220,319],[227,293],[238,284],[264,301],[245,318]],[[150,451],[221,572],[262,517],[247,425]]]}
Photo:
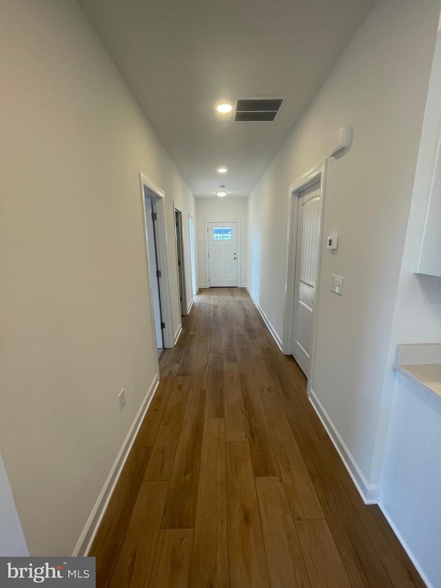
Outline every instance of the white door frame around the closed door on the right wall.
{"label": "white door frame around the closed door on the right wall", "polygon": [[311,374],[313,373],[314,365],[314,354],[316,348],[316,330],[317,330],[317,315],[318,315],[318,295],[319,295],[319,282],[320,276],[320,259],[322,253],[322,240],[323,240],[323,216],[325,211],[325,188],[326,188],[326,172],[327,172],[327,159],[317,165],[315,168],[307,172],[304,176],[296,180],[289,186],[289,204],[288,204],[288,252],[287,252],[287,280],[285,287],[285,315],[283,318],[283,345],[282,350],[286,355],[292,354],[292,336],[294,330],[294,294],[296,292],[296,249],[297,249],[297,219],[298,219],[298,201],[300,192],[305,190],[307,187],[320,181],[320,232],[319,232],[319,243],[318,247],[318,260],[317,269],[315,276],[315,292],[314,292],[314,327],[313,327],[313,339],[311,349],[311,366],[309,371],[308,379],[308,395],[309,395],[309,383],[311,381]]}

